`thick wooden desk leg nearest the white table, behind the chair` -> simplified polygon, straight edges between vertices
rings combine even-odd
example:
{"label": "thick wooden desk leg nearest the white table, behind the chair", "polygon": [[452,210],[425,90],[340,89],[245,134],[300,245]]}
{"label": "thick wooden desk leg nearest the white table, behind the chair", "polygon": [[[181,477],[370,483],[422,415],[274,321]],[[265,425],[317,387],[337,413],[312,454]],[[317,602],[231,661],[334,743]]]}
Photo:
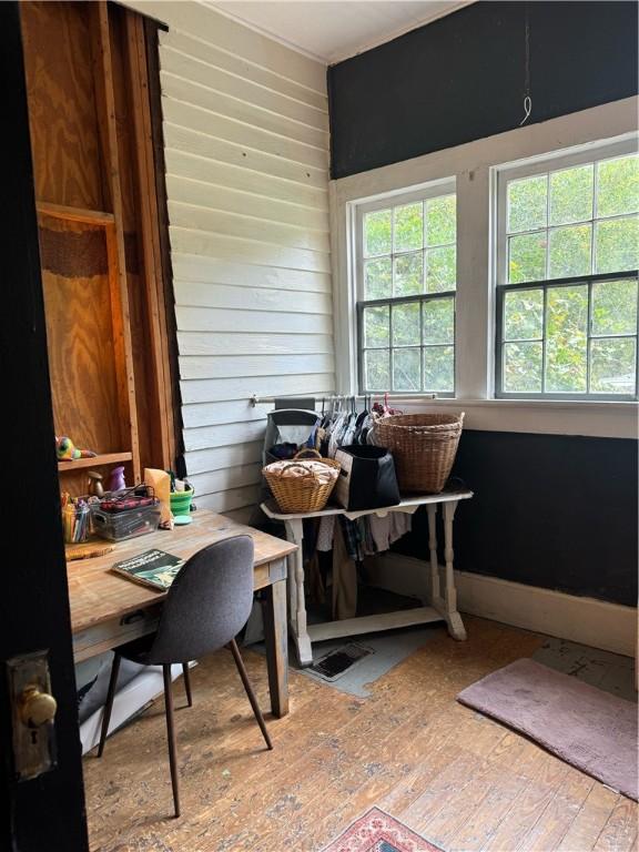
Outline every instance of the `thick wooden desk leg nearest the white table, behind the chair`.
{"label": "thick wooden desk leg nearest the white table, behind the chair", "polygon": [[288,631],[286,629],[286,580],[267,586],[264,600],[264,641],[271,710],[281,718],[288,712]]}

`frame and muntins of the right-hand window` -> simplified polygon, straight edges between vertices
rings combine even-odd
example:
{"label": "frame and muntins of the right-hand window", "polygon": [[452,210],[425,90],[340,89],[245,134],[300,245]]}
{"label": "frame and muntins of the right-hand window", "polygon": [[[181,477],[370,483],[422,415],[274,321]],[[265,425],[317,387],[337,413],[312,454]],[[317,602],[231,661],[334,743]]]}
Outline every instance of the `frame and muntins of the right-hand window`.
{"label": "frame and muntins of the right-hand window", "polygon": [[[508,283],[508,231],[507,231],[507,187],[508,183],[525,178],[534,178],[538,174],[548,174],[550,172],[562,171],[564,169],[570,169],[578,165],[598,163],[605,160],[613,160],[620,156],[628,156],[630,154],[637,155],[637,140],[625,139],[619,142],[601,145],[588,145],[580,151],[572,152],[557,152],[538,155],[530,158],[526,161],[519,161],[510,164],[500,164],[495,166],[496,182],[495,182],[495,240],[493,245],[493,252],[495,257],[495,356],[494,356],[494,396],[496,399],[532,399],[532,400],[561,400],[561,402],[637,402],[639,398],[639,300],[637,310],[637,333],[635,335],[619,335],[619,337],[635,338],[635,394],[611,394],[611,393],[569,393],[569,392],[509,392],[503,389],[503,366],[504,366],[504,303],[506,293],[523,291],[523,290],[539,290],[544,295],[544,328],[542,328],[542,366],[541,366],[541,381],[545,379],[545,365],[546,365],[546,300],[547,293],[550,288],[570,286],[570,285],[587,285],[588,286],[588,326],[586,333],[586,346],[587,346],[587,377],[589,382],[590,377],[590,342],[598,337],[607,337],[608,335],[591,335],[590,326],[590,313],[592,305],[592,284],[598,281],[615,281],[615,280],[639,280],[638,270],[626,270],[623,272],[608,272],[608,273],[589,273],[579,276],[571,276],[565,278],[544,278],[541,281],[528,281],[517,284]],[[595,169],[595,175],[597,170]],[[625,215],[632,214],[619,214],[618,216],[604,216],[600,220],[596,216],[597,210],[597,181],[595,179],[595,185],[592,190],[592,220],[586,220],[586,222],[592,223],[592,240],[595,239],[595,222],[609,221],[613,219],[620,219]],[[547,200],[548,203],[549,199]],[[547,220],[548,222],[548,220]],[[569,224],[581,224],[569,223]],[[566,225],[568,226],[568,225]],[[544,229],[547,234],[552,230],[549,224]],[[542,229],[534,229],[532,231],[521,231],[518,233],[534,233],[536,231],[542,231]],[[639,286],[639,283],[638,283]],[[609,335],[613,337],[616,335]]]}

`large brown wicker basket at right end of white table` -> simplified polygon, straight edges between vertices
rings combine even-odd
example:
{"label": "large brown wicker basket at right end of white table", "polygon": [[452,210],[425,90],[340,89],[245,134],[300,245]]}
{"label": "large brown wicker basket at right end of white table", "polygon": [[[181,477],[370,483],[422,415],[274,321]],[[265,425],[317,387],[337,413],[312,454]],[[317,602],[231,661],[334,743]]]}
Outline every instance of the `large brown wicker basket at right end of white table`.
{"label": "large brown wicker basket at right end of white table", "polygon": [[438,494],[450,475],[462,414],[397,414],[375,424],[375,442],[393,454],[402,491]]}

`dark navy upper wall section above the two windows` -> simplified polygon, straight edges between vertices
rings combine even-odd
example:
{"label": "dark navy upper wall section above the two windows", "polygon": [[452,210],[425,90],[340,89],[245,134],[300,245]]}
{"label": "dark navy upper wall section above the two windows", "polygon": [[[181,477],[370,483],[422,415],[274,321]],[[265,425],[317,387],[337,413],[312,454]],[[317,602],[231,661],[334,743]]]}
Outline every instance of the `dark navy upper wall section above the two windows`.
{"label": "dark navy upper wall section above the two windows", "polygon": [[[526,22],[528,20],[529,75]],[[344,178],[636,94],[636,2],[478,2],[328,69]]]}

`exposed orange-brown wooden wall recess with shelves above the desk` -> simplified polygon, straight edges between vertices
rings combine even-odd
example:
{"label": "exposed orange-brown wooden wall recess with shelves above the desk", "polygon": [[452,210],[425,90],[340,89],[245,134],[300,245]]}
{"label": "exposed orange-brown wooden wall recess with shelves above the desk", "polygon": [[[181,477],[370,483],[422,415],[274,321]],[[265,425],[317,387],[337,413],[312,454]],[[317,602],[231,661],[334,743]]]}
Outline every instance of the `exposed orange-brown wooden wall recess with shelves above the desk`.
{"label": "exposed orange-brown wooden wall recess with shelves above the desk", "polygon": [[124,465],[134,485],[145,467],[175,467],[146,54],[158,34],[105,0],[33,0],[20,16],[54,432],[98,453],[58,464],[77,496],[87,469]]}

